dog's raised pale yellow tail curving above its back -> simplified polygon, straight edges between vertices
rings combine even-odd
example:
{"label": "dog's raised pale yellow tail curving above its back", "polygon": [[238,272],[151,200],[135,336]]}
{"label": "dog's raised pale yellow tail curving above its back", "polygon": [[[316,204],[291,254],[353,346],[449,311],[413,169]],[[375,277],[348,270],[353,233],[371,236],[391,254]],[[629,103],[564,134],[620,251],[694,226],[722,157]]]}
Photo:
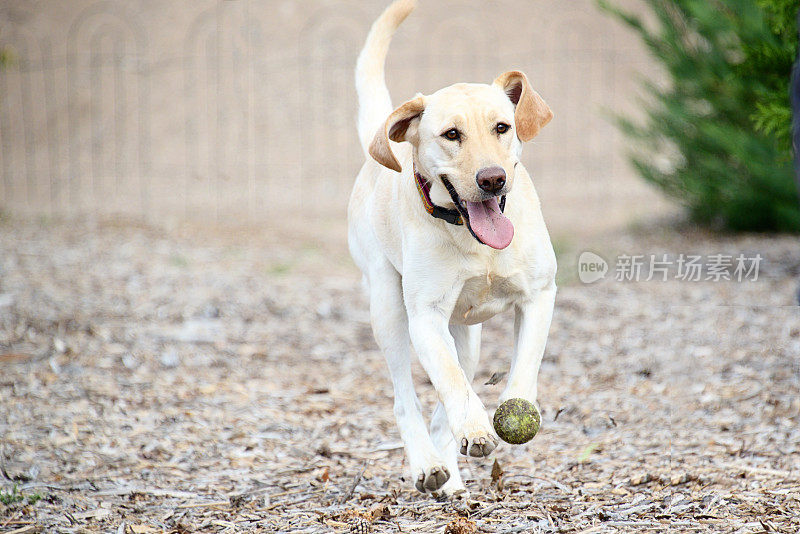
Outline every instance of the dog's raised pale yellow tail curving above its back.
{"label": "dog's raised pale yellow tail curving above its back", "polygon": [[416,0],[395,0],[378,17],[367,35],[356,63],[358,93],[358,138],[364,152],[375,132],[392,112],[392,99],[386,87],[384,65],[395,30],[417,7]]}

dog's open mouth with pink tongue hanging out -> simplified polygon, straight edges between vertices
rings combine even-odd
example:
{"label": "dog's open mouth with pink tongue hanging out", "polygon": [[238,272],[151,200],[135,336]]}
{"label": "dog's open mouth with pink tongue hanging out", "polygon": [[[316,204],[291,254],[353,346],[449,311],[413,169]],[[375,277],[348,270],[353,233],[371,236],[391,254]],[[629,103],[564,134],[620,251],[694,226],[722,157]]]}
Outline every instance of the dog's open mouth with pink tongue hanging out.
{"label": "dog's open mouth with pink tongue hanging out", "polygon": [[[504,249],[511,244],[511,239],[514,237],[514,225],[511,224],[508,217],[503,215],[503,210],[497,201],[498,197],[481,202],[462,200],[453,184],[444,176],[442,176],[442,182],[475,239],[496,249]],[[503,201],[505,201],[505,197]]]}

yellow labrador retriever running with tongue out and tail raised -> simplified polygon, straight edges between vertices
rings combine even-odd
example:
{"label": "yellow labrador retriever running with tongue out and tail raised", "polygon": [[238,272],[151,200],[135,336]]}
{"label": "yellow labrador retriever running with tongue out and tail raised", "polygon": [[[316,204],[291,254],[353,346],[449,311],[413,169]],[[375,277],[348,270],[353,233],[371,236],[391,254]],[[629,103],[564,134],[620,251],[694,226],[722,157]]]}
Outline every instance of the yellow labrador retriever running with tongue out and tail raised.
{"label": "yellow labrador retriever running with tongue out and tail raised", "polygon": [[[483,457],[498,444],[471,382],[481,323],[512,307],[516,344],[500,400],[536,402],[556,259],[519,158],[522,142],[553,114],[517,71],[489,85],[419,94],[392,110],[384,62],[415,6],[390,5],[358,58],[358,132],[371,158],[350,198],[348,239],[416,487],[456,496],[466,492],[459,452]],[[412,345],[439,397],[430,433],[411,378]]]}

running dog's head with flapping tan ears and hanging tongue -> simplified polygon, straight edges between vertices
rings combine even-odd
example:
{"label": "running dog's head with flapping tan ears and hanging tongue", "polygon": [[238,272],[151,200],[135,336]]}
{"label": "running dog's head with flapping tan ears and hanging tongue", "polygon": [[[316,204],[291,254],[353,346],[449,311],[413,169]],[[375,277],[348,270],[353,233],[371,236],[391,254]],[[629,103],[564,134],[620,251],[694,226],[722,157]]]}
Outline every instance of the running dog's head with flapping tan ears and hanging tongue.
{"label": "running dog's head with flapping tan ears and hanging tongue", "polygon": [[[369,153],[400,172],[389,141],[410,142],[419,172],[440,189],[439,196],[446,191],[481,242],[504,248],[513,228],[508,235],[509,227],[496,220],[497,198],[513,187],[522,142],[536,136],[552,117],[528,78],[510,71],[491,85],[456,84],[409,100],[389,115]],[[492,236],[484,239],[482,231]]]}

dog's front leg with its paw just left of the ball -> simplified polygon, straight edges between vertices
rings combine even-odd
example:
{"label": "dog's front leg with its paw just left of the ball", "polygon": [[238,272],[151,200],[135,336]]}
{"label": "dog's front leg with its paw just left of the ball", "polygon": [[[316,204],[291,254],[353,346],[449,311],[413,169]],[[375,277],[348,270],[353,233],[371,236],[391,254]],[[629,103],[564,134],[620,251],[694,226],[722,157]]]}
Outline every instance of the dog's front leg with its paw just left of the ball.
{"label": "dog's front leg with its paw just left of the ball", "polygon": [[488,456],[497,438],[483,403],[458,363],[449,313],[434,305],[409,309],[409,332],[420,363],[436,388],[461,454]]}

